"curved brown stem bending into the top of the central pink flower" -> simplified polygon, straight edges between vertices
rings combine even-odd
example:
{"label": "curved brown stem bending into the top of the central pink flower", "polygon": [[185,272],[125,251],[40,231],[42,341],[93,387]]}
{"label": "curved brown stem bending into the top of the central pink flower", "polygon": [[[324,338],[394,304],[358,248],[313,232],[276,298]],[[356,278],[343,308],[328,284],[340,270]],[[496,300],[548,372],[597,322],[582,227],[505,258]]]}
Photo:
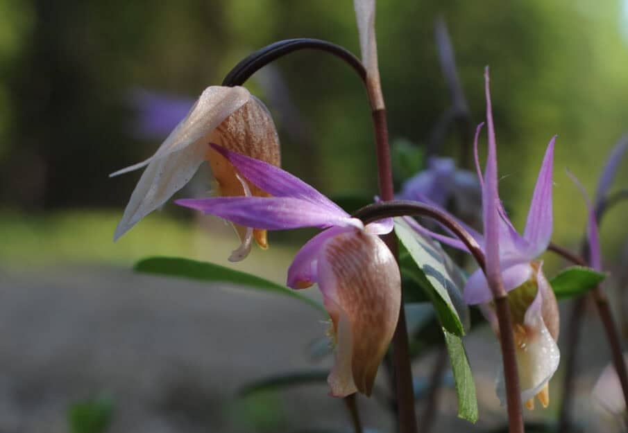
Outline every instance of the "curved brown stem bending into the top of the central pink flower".
{"label": "curved brown stem bending into the top of the central pink flower", "polygon": [[420,202],[413,202],[411,200],[391,200],[390,202],[369,204],[368,206],[364,206],[362,209],[353,213],[353,217],[359,218],[362,222],[364,222],[364,224],[381,220],[382,218],[406,215],[425,216],[443,224],[444,227],[452,231],[457,238],[464,242],[464,245],[467,247],[470,254],[473,255],[473,258],[477,261],[477,264],[480,265],[482,270],[484,270],[484,252],[482,252],[482,248],[480,248],[480,245],[477,244],[473,236],[471,236],[468,231],[466,231],[466,229],[464,229],[464,227],[458,224],[455,220],[452,220],[447,213],[434,206]]}

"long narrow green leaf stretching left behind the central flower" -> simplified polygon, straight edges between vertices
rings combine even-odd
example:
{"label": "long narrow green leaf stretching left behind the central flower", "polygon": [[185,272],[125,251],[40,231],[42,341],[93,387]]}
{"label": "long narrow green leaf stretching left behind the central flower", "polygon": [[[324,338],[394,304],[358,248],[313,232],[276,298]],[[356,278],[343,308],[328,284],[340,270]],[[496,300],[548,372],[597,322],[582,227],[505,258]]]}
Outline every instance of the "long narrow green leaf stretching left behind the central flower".
{"label": "long narrow green leaf stretching left behind the central flower", "polygon": [[236,271],[214,263],[199,262],[178,257],[149,257],[139,260],[139,262],[135,263],[133,269],[136,272],[143,272],[145,274],[180,276],[187,279],[211,281],[215,283],[231,283],[244,288],[282,294],[303,301],[309,306],[313,306],[323,312],[325,311],[321,303],[314,299],[304,297],[302,294],[283,285],[263,279],[260,276]]}

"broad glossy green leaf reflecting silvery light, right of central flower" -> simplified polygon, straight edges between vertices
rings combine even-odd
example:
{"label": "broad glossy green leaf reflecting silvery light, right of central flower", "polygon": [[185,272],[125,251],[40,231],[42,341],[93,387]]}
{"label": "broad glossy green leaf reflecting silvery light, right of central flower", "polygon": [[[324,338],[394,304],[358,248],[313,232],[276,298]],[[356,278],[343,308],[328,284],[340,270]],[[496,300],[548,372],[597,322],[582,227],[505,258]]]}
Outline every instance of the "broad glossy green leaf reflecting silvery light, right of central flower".
{"label": "broad glossy green leaf reflecting silvery light, right of central flower", "polygon": [[395,218],[395,233],[400,240],[402,273],[423,288],[445,329],[464,335],[469,315],[459,289],[464,274],[439,245],[416,233],[402,218]]}

